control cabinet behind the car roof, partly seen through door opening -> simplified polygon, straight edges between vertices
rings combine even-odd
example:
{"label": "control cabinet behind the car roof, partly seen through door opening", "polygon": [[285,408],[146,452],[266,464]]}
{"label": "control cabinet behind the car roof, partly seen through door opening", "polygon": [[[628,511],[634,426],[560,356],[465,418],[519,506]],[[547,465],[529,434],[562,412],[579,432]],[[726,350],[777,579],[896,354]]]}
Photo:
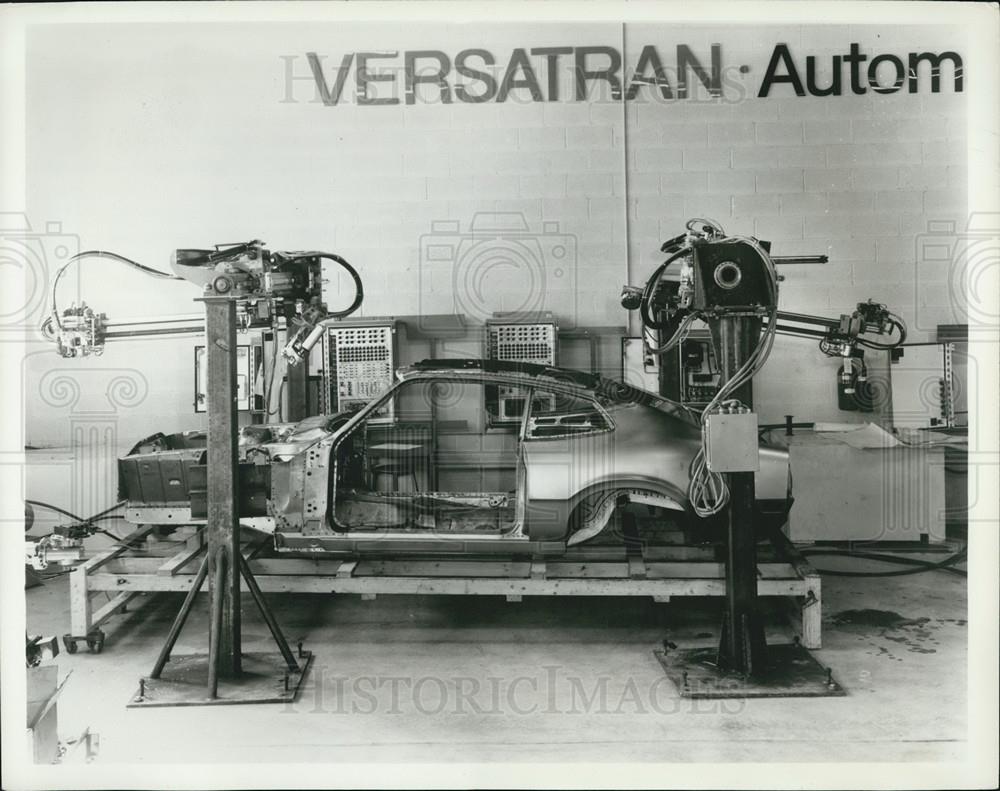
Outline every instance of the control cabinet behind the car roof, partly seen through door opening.
{"label": "control cabinet behind the car roof, partly seen through door opening", "polygon": [[[486,321],[486,359],[510,362],[556,364],[556,341],[559,329],[551,313],[538,321],[511,321],[494,314]],[[485,388],[486,416],[490,427],[516,426],[524,414],[527,393],[519,387]],[[554,397],[540,395],[552,403],[541,409],[553,410]]]}

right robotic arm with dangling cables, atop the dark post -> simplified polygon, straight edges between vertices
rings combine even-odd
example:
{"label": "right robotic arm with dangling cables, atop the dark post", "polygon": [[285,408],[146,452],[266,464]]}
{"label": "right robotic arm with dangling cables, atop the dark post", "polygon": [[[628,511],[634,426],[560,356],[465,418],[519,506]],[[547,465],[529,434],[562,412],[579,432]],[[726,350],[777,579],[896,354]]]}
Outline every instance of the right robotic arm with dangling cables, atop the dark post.
{"label": "right robotic arm with dangling cables, atop the dark post", "polygon": [[[769,242],[752,237],[729,236],[718,224],[696,218],[688,221],[686,233],[663,245],[661,251],[669,257],[644,286],[622,290],[622,306],[639,311],[647,352],[666,354],[683,342],[691,324],[700,319],[711,329],[716,356],[725,346],[740,361],[736,369],[729,366],[727,371],[723,366],[723,381],[701,411],[702,449],[692,461],[688,488],[688,498],[699,516],[719,513],[728,503],[723,473],[746,469],[743,457],[736,458],[739,454],[729,459],[717,456],[713,462],[711,438],[719,436],[727,425],[756,427],[746,398],[747,385],[763,368],[777,333],[818,338],[824,354],[843,356],[841,385],[846,377],[851,388],[862,375],[855,375],[854,366],[860,365],[864,371],[864,348],[892,349],[906,338],[903,320],[885,305],[870,300],[839,319],[779,311],[778,284],[782,278],[775,265],[824,263],[826,257],[783,260],[771,256],[770,247]],[[679,277],[667,280],[664,274],[673,264],[680,270]],[[879,337],[888,340],[877,340]],[[749,344],[745,344],[747,339]],[[733,354],[734,348],[739,352]],[[741,436],[755,437],[756,432],[744,431]],[[721,446],[725,443],[717,444]],[[728,466],[730,463],[735,466]]]}

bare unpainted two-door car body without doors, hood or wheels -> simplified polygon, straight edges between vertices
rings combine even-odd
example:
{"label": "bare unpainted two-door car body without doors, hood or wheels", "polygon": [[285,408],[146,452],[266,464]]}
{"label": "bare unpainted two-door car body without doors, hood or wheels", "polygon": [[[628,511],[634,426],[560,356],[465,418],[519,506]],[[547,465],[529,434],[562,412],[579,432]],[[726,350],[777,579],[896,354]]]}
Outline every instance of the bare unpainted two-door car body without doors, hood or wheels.
{"label": "bare unpainted two-door car body without doors, hood or wheels", "polygon": [[[525,394],[521,420],[507,430],[515,435],[508,443],[514,490],[382,490],[373,481],[367,442],[373,416],[404,388],[434,392],[449,385]],[[560,410],[557,402],[569,406]],[[178,437],[156,435],[121,460],[134,521],[165,523],[164,514],[185,506],[192,517],[203,514],[204,437]],[[558,555],[602,534],[628,503],[697,528],[686,492],[700,447],[695,415],[620,382],[523,363],[430,360],[401,369],[393,387],[358,412],[244,428],[241,514],[273,519],[279,550]],[[168,480],[176,482],[174,491]],[[761,447],[756,487],[762,510],[787,513],[783,450]],[[169,519],[177,524],[183,517]]]}

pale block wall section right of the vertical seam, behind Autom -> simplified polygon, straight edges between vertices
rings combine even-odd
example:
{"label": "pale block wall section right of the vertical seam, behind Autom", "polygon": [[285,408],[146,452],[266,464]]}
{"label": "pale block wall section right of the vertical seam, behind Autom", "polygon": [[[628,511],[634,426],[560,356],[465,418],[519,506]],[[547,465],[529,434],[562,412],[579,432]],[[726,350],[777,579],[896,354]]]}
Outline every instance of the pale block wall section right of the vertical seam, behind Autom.
{"label": "pale block wall section right of the vertical seam, behind Autom", "polygon": [[[650,42],[684,42],[707,53],[722,42],[730,68],[721,99],[707,92],[666,101],[644,89],[629,105],[625,134],[632,282],[662,262],[660,240],[681,233],[690,217],[707,217],[735,234],[770,240],[776,255],[829,255],[822,266],[786,266],[780,307],[836,317],[859,301],[888,304],[910,325],[913,340],[933,340],[938,323],[962,322],[962,294],[944,267],[920,265],[928,225],[964,227],[967,217],[965,94],[950,75],[941,93],[798,97],[788,85],[758,97],[771,52],[785,43],[805,79],[805,55],[816,57],[817,84],[831,84],[832,59],[857,42],[869,58],[890,53],[963,52],[955,31],[900,26],[753,28],[728,36],[710,29],[649,27],[632,31],[626,62]],[[669,52],[669,47],[664,47]],[[746,74],[739,66],[748,66]],[[783,71],[781,73],[784,73]],[[729,81],[729,82],[727,82]],[[874,371],[885,355],[869,353]],[[762,422],[861,420],[837,409],[836,360],[816,344],[778,338],[755,382]]]}

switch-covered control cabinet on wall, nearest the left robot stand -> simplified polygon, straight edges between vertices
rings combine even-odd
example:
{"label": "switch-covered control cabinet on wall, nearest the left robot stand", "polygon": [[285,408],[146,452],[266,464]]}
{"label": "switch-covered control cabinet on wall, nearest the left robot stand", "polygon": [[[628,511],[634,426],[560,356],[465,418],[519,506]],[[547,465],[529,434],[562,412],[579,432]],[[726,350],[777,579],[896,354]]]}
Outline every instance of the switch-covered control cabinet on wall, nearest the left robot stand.
{"label": "switch-covered control cabinet on wall, nearest the left robot stand", "polygon": [[[396,322],[391,319],[344,321],[323,337],[323,411],[356,412],[382,395],[396,376]],[[370,420],[390,423],[390,399]]]}

